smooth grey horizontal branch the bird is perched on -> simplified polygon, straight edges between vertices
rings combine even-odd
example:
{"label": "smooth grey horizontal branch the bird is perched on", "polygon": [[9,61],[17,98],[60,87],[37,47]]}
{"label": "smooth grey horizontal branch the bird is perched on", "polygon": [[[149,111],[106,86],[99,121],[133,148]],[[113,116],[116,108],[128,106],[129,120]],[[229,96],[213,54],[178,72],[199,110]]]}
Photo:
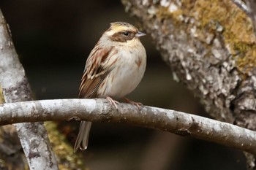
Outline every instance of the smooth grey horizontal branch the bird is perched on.
{"label": "smooth grey horizontal branch the bird is perched on", "polygon": [[127,123],[193,136],[256,155],[256,132],[230,123],[170,109],[131,104],[111,107],[105,99],[56,99],[0,105],[0,125],[48,120]]}

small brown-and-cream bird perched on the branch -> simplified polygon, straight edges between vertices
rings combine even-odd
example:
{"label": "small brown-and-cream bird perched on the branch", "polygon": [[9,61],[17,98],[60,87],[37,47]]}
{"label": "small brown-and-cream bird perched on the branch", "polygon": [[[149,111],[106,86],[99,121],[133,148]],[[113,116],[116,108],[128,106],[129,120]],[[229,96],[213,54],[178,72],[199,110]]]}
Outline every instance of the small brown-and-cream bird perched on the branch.
{"label": "small brown-and-cream bird perched on the branch", "polygon": [[[145,35],[130,23],[110,23],[86,60],[78,98],[106,98],[116,109],[115,99],[124,98],[140,109],[141,103],[125,96],[135,90],[146,70],[146,50],[139,39]],[[90,128],[91,122],[81,121],[74,152],[86,150]]]}

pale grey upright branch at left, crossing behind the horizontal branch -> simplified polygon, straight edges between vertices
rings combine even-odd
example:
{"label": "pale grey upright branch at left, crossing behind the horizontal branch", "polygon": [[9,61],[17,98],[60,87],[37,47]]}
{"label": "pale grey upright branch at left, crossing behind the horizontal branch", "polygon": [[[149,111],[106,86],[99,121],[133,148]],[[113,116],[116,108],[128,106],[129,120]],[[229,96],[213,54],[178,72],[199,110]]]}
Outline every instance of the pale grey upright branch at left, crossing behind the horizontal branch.
{"label": "pale grey upright branch at left, crossing behind the horizontal branch", "polygon": [[[0,10],[0,83],[7,103],[31,100],[26,75]],[[30,169],[58,169],[43,123],[18,123],[15,128]]]}

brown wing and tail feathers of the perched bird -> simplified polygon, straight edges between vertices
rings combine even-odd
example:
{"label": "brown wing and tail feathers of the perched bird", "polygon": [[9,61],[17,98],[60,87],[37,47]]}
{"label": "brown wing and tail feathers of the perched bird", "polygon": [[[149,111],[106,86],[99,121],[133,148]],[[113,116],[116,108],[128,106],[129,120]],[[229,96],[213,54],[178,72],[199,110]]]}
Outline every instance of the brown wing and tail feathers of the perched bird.
{"label": "brown wing and tail feathers of the perched bird", "polygon": [[[97,97],[97,90],[99,85],[102,84],[105,77],[113,69],[113,64],[105,64],[114,54],[116,50],[114,47],[100,48],[99,43],[91,51],[89,58],[86,61],[86,68],[83,72],[83,77],[79,87],[79,98],[94,98]],[[80,123],[80,129],[78,138],[75,142],[74,152],[80,148],[86,150],[89,139],[89,132],[91,128],[91,122],[82,121]]]}

